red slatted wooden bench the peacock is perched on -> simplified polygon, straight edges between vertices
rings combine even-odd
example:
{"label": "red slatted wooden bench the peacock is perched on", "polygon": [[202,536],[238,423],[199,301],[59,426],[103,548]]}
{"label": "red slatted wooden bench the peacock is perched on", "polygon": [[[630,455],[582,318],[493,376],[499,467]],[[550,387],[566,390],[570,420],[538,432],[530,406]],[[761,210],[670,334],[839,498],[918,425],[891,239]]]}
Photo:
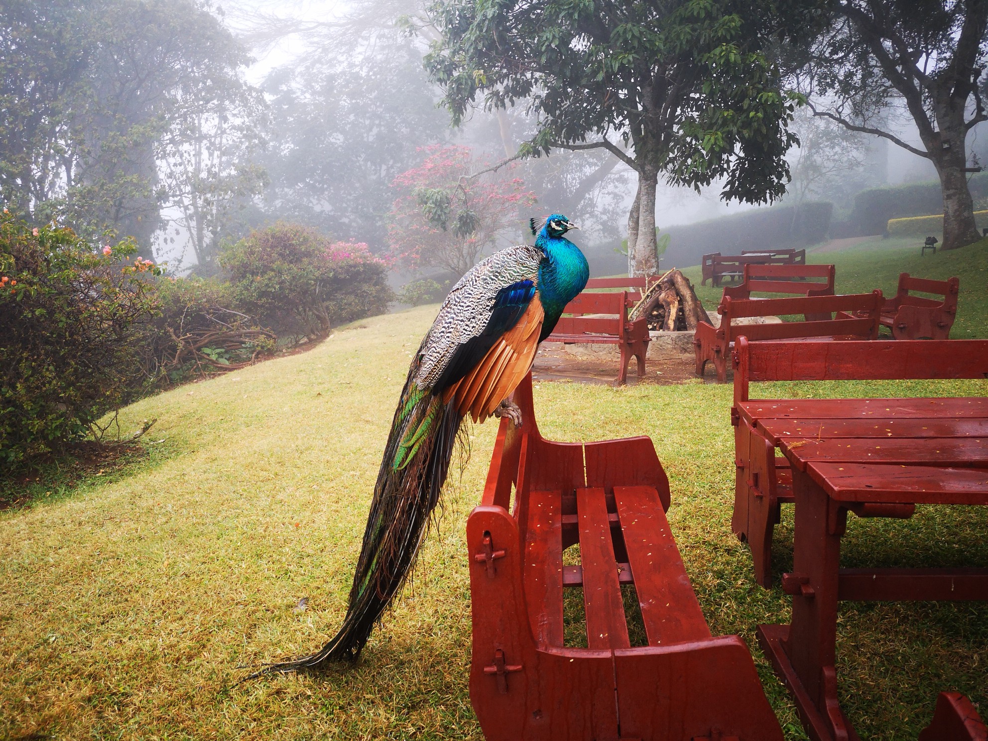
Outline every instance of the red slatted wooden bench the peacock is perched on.
{"label": "red slatted wooden bench the peacock is perched on", "polygon": [[[531,375],[515,401],[523,426],[501,421],[466,524],[470,700],[485,738],[782,741],[744,641],[710,635],[651,441],[553,443],[538,433]],[[577,543],[579,564],[566,565]],[[563,639],[563,592],[577,588],[586,648]],[[647,645],[631,646],[627,612]]]}

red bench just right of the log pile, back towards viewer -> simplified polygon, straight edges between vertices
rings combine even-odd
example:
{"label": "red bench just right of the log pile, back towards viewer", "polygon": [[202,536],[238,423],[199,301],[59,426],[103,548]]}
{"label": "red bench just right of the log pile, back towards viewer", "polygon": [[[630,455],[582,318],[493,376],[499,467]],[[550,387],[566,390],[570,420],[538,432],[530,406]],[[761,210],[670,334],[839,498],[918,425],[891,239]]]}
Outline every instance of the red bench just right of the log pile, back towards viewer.
{"label": "red bench just right of the log pile, back towards viewer", "polygon": [[[795,338],[870,339],[878,336],[882,297],[880,290],[846,295],[803,296],[799,298],[738,299],[725,296],[717,306],[720,326],[706,322],[697,325],[694,351],[697,375],[706,364],[713,363],[717,380],[727,380],[730,348],[737,337],[749,341],[789,340]],[[837,317],[831,319],[832,313]],[[782,324],[732,324],[732,319],[754,316],[803,314],[807,321]]]}

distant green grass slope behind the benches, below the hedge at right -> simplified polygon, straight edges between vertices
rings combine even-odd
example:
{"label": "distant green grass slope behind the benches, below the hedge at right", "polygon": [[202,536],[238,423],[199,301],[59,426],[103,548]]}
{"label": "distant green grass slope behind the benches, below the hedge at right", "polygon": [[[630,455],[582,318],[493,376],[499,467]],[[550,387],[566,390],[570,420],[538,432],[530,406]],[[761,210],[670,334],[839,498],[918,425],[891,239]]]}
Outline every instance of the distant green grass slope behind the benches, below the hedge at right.
{"label": "distant green grass slope behind the benches, below the hedge at right", "polygon": [[[806,260],[836,266],[838,293],[866,293],[880,288],[886,297],[891,297],[895,295],[900,273],[936,281],[956,276],[960,279],[960,295],[957,317],[950,330],[951,339],[988,338],[988,239],[959,250],[927,252],[921,257],[922,243],[919,238],[873,237],[839,252],[810,252]],[[700,286],[700,266],[688,268],[683,273],[697,288],[706,310],[716,309],[721,288]]]}

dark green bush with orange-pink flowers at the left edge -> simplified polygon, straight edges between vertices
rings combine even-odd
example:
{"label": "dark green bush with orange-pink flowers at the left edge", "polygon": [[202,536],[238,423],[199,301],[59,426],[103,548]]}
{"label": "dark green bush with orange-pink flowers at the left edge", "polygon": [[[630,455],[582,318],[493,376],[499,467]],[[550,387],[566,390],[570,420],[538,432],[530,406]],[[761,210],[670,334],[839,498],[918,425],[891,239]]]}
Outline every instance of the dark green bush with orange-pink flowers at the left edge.
{"label": "dark green bush with orange-pink flowers at the left edge", "polygon": [[95,250],[70,229],[0,215],[0,462],[58,450],[137,395],[160,271],[128,240]]}

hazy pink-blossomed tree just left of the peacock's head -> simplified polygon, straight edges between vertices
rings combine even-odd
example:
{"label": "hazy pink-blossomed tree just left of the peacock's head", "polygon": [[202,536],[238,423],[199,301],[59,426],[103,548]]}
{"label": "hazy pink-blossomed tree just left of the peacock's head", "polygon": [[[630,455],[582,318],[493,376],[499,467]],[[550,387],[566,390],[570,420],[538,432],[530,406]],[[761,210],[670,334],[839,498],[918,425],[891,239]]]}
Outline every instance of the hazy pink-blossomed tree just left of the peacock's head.
{"label": "hazy pink-blossomed tree just left of the peacock's head", "polygon": [[519,178],[478,173],[484,167],[462,146],[428,147],[418,167],[399,175],[390,213],[391,252],[413,270],[440,268],[456,278],[519,223],[534,195]]}

